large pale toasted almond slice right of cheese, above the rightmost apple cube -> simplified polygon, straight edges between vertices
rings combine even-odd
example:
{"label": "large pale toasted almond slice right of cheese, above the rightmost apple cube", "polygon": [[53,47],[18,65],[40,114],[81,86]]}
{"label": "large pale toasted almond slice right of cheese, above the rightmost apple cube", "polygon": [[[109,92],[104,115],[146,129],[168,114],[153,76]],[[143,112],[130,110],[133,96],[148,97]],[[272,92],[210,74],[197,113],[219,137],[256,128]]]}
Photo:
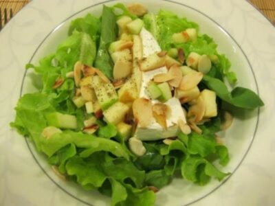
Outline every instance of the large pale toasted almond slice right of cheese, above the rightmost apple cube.
{"label": "large pale toasted almond slice right of cheese, above the rightmost apple cube", "polygon": [[193,89],[194,87],[197,87],[197,84],[201,82],[202,78],[203,73],[201,72],[188,73],[181,79],[179,89],[184,91]]}

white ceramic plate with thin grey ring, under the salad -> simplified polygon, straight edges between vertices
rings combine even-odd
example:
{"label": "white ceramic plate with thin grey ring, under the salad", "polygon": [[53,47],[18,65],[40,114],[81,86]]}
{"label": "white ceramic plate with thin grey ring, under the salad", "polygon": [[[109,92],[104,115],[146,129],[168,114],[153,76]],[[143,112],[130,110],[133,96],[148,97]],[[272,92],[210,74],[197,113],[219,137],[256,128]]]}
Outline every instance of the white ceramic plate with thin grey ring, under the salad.
{"label": "white ceramic plate with thin grey ring, under the salad", "polygon": [[[108,205],[109,198],[98,192],[84,192],[58,179],[32,144],[8,126],[21,92],[33,91],[29,76],[23,78],[25,63],[54,51],[65,38],[69,21],[87,12],[100,14],[102,2],[32,1],[0,32],[0,205]],[[156,204],[272,205],[274,27],[246,1],[142,2],[151,12],[164,8],[199,23],[201,32],[214,37],[219,51],[232,61],[239,85],[260,93],[265,102],[261,111],[243,113],[241,117],[248,119],[236,119],[224,134],[231,161],[223,170],[233,172],[229,179],[212,180],[206,187],[175,179],[157,194]]]}

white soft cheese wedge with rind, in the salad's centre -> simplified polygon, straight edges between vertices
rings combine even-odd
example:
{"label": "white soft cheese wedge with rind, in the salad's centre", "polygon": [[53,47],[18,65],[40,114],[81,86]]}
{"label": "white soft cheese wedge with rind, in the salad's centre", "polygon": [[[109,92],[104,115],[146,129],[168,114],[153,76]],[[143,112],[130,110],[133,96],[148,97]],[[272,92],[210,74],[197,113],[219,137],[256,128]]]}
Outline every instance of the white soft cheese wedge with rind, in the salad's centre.
{"label": "white soft cheese wedge with rind, in the salad's centre", "polygon": [[[143,58],[161,52],[161,49],[153,37],[153,35],[142,28],[140,32],[140,37],[142,38],[142,48],[143,48]],[[167,73],[168,69],[164,67],[159,67],[151,71],[142,72],[142,82],[140,87],[140,98],[146,98],[150,100],[150,95],[147,91],[148,82],[153,79],[156,74]],[[158,100],[151,100],[152,104],[159,103]],[[135,136],[137,139],[142,141],[154,141],[157,139],[165,139],[168,137],[176,137],[179,133],[178,121],[182,119],[186,123],[186,117],[184,116],[184,111],[181,108],[181,103],[177,98],[170,98],[164,102],[170,108],[170,115],[166,119],[167,129],[163,128],[158,124],[155,119],[146,128],[142,128],[137,125]]]}

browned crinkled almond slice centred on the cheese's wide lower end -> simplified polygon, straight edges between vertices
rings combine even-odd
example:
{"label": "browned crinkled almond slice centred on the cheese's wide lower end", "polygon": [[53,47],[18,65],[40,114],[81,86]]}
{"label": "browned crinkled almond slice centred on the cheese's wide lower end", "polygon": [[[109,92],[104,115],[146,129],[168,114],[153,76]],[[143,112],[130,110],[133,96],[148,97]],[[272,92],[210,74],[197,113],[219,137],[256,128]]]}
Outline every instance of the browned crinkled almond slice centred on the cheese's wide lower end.
{"label": "browned crinkled almond slice centred on the cheese's wide lower end", "polygon": [[158,124],[167,129],[166,119],[169,113],[169,108],[166,104],[157,103],[152,107],[153,117]]}

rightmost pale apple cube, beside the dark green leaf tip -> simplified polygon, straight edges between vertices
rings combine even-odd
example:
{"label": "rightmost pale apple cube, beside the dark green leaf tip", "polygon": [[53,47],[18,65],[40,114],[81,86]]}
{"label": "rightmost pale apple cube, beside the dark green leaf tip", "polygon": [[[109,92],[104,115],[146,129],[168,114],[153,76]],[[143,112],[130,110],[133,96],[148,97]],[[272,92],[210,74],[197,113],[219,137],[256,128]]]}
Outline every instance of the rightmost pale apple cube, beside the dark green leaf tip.
{"label": "rightmost pale apple cube, beside the dark green leaf tip", "polygon": [[206,104],[206,111],[203,117],[205,118],[216,117],[217,116],[216,93],[209,89],[203,89],[203,91],[201,91],[200,97],[203,98]]}

